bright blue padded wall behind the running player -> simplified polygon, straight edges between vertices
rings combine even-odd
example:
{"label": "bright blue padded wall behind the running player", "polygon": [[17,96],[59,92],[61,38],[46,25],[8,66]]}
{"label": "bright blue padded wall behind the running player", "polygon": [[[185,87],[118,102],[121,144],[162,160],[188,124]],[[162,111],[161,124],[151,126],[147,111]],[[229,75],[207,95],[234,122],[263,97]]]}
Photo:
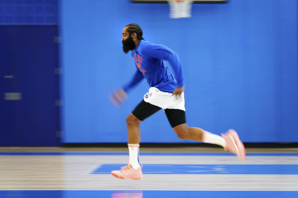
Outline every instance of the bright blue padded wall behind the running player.
{"label": "bright blue padded wall behind the running player", "polygon": [[[170,19],[168,4],[124,0],[61,1],[64,143],[126,142],[125,117],[148,90],[143,81],[121,109],[108,93],[135,70],[121,31],[180,57],[189,126],[243,142],[298,142],[297,1],[230,0],[193,4],[192,18]],[[180,140],[161,110],[141,123],[142,142]]]}

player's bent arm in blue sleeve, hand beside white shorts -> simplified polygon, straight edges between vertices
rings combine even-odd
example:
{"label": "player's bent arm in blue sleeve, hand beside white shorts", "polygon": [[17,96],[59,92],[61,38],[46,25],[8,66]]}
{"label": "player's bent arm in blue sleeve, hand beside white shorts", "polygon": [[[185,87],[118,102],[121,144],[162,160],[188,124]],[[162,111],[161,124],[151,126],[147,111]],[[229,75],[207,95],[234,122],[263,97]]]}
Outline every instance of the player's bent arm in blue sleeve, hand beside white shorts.
{"label": "player's bent arm in blue sleeve, hand beside white shorts", "polygon": [[146,54],[152,58],[167,60],[171,64],[177,80],[177,90],[175,90],[173,94],[180,95],[184,88],[184,76],[178,54],[165,45],[152,43],[143,46],[142,54]]}

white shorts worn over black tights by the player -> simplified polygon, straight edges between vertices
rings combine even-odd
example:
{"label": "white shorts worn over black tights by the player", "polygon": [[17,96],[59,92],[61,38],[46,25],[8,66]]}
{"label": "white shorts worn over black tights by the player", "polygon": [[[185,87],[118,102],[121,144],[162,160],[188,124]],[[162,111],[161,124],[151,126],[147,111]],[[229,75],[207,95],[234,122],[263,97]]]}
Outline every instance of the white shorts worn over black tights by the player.
{"label": "white shorts worn over black tights by the player", "polygon": [[158,88],[150,87],[149,92],[144,95],[144,101],[162,109],[180,109],[185,111],[184,92],[180,96],[172,96],[172,93],[162,92]]}

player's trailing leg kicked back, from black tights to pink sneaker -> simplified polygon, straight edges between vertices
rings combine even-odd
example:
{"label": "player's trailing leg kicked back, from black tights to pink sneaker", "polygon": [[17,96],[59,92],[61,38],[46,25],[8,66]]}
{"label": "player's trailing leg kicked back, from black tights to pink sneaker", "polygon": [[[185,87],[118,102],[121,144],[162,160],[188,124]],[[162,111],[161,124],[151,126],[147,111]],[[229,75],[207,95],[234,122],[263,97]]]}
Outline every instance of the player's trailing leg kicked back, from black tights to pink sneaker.
{"label": "player's trailing leg kicked back, from black tights to pink sneaker", "polygon": [[166,109],[165,114],[170,125],[181,139],[202,141],[204,143],[217,144],[235,153],[239,160],[245,159],[245,148],[236,131],[230,129],[227,133],[218,136],[198,127],[188,127],[185,120],[185,111],[179,109]]}

